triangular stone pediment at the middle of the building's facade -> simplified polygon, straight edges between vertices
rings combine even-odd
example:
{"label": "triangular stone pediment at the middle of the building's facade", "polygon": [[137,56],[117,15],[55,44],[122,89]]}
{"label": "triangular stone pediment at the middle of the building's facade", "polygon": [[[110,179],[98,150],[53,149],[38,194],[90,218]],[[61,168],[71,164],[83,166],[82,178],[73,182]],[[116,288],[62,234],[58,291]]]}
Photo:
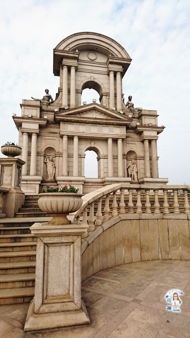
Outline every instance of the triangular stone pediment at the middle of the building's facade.
{"label": "triangular stone pediment at the middle of the building's facade", "polygon": [[130,123],[132,119],[126,115],[122,115],[117,113],[116,111],[112,111],[98,103],[90,103],[84,106],[80,106],[77,108],[69,109],[66,111],[61,111],[55,113],[56,117],[77,117],[77,118],[90,118],[90,119],[117,119],[117,120],[128,120]]}

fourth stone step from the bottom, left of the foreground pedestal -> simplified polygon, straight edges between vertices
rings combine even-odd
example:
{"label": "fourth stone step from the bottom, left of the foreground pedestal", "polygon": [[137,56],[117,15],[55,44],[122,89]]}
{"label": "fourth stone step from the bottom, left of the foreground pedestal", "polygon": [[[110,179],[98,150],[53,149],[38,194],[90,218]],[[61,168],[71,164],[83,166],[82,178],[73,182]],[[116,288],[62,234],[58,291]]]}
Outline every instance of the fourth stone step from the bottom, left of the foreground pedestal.
{"label": "fourth stone step from the bottom, left of the foreground pedestal", "polygon": [[36,251],[8,251],[0,252],[0,262],[25,262],[25,261],[35,261],[36,260]]}

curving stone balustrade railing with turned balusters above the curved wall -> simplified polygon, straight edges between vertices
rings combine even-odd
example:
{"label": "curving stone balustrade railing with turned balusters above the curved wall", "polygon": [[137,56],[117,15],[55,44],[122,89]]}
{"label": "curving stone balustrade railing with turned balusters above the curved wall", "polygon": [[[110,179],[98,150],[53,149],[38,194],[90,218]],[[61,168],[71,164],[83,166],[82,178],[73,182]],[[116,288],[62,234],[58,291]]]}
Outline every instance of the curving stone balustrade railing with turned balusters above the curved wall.
{"label": "curving stone balustrade railing with turned balusters above the curved wall", "polygon": [[88,224],[88,232],[118,214],[190,214],[189,186],[129,187],[110,185],[83,196],[73,220]]}

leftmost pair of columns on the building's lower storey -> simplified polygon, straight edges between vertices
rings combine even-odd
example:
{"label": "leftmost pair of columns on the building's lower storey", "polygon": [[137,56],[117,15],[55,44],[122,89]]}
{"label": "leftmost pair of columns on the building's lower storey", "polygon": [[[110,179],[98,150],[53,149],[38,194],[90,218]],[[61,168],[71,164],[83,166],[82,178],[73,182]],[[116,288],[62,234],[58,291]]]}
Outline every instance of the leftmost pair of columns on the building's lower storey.
{"label": "leftmost pair of columns on the building's lower storey", "polygon": [[[30,176],[36,175],[36,158],[37,158],[37,134],[32,133],[31,144],[31,160],[30,160]],[[22,175],[27,175],[28,166],[28,133],[23,132],[23,147],[22,147],[22,160],[26,163],[23,165]]]}

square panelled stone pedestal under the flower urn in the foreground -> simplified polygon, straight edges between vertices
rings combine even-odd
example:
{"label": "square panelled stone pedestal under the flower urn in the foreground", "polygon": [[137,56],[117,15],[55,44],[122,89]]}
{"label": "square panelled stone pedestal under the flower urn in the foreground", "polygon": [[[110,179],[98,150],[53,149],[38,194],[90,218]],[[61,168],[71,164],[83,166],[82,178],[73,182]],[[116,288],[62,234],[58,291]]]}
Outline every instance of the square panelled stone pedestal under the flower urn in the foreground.
{"label": "square panelled stone pedestal under the flower urn in the foreground", "polygon": [[81,301],[81,235],[88,225],[34,223],[37,237],[35,295],[24,331],[89,324]]}

